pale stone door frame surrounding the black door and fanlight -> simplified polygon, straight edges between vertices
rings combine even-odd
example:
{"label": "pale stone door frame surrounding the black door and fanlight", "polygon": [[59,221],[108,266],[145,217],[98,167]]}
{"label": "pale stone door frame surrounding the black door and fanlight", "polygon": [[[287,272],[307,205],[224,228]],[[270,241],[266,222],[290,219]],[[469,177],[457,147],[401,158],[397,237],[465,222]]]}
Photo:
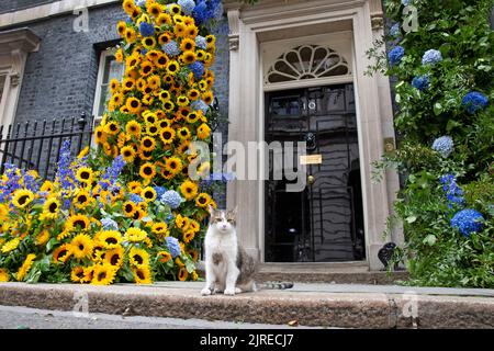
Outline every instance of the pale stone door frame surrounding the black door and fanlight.
{"label": "pale stone door frame surrounding the black door and fanlight", "polygon": [[[293,3],[292,3],[293,2]],[[368,77],[364,71],[369,65],[366,50],[374,39],[369,0],[343,1],[290,1],[267,0],[258,7],[245,8],[227,4],[231,45],[229,77],[229,129],[228,140],[263,140],[263,89],[262,63],[259,44],[262,37],[272,33],[299,33],[307,24],[315,27],[348,21],[353,33],[353,84],[356,94],[357,124],[359,136],[360,171],[364,213],[366,256],[371,270],[382,268],[377,253],[385,242],[382,233],[391,211],[391,200],[397,189],[397,180],[384,174],[380,183],[371,182],[371,163],[383,152],[384,121],[391,117],[390,95],[382,105],[382,88],[385,83],[379,77]],[[303,32],[303,31],[302,31]],[[384,92],[389,92],[384,89]],[[388,128],[388,133],[390,128]],[[391,128],[392,129],[392,128]],[[263,165],[262,157],[258,165]],[[259,168],[259,167],[258,167]],[[262,174],[260,174],[262,176]],[[262,179],[262,178],[259,178]],[[390,183],[391,182],[391,183]],[[246,249],[263,261],[265,196],[263,182],[254,180],[235,181],[227,188],[227,206],[238,205],[242,216],[237,227]],[[401,241],[400,236],[394,241]]]}

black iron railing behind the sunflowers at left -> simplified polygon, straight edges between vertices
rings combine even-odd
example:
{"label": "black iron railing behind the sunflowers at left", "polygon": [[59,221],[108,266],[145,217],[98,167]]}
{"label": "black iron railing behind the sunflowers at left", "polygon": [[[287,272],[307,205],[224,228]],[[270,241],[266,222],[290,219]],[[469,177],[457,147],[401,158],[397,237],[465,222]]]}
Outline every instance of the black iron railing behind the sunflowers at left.
{"label": "black iron railing behind the sunflowers at left", "polygon": [[34,121],[0,126],[0,174],[5,163],[36,170],[40,177],[54,179],[61,141],[70,140],[74,155],[91,144],[93,117]]}

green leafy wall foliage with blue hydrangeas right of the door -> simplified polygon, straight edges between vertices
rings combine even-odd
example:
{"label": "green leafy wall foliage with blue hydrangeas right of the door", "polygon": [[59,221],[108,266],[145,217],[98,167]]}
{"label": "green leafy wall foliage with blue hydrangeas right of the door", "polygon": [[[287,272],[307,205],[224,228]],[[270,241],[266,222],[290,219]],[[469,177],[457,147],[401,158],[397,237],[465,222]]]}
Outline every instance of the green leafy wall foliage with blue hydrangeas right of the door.
{"label": "green leafy wall foliage with blue hydrangeas right of the door", "polygon": [[[403,25],[411,7],[416,30]],[[386,57],[368,52],[372,69],[396,79],[398,146],[375,166],[404,179],[390,224],[404,224],[394,260],[406,263],[413,284],[494,286],[492,7],[388,0]]]}

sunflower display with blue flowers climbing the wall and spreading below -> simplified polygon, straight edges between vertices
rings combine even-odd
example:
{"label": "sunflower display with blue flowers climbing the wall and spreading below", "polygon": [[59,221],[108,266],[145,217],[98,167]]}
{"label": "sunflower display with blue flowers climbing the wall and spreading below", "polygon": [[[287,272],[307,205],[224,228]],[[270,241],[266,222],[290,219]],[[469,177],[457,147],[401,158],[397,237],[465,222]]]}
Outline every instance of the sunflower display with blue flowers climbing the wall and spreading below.
{"label": "sunflower display with blue flowers climbing the wall and spreading below", "polygon": [[210,172],[192,141],[210,143],[220,0],[124,0],[125,64],[110,82],[97,150],[64,141],[54,182],[5,165],[0,180],[0,282],[111,284],[197,280]]}

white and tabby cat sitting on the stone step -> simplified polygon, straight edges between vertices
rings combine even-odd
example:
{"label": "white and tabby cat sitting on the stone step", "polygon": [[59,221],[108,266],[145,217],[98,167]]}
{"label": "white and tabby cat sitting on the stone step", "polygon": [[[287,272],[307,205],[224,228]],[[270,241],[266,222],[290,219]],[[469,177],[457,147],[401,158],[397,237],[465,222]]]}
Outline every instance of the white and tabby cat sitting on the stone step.
{"label": "white and tabby cat sitting on the stone step", "polygon": [[206,285],[202,295],[224,293],[235,295],[255,292],[258,288],[290,288],[292,283],[266,283],[256,285],[254,275],[257,262],[238,244],[236,230],[236,208],[234,211],[215,210],[210,206],[210,226],[207,228],[205,250]]}

